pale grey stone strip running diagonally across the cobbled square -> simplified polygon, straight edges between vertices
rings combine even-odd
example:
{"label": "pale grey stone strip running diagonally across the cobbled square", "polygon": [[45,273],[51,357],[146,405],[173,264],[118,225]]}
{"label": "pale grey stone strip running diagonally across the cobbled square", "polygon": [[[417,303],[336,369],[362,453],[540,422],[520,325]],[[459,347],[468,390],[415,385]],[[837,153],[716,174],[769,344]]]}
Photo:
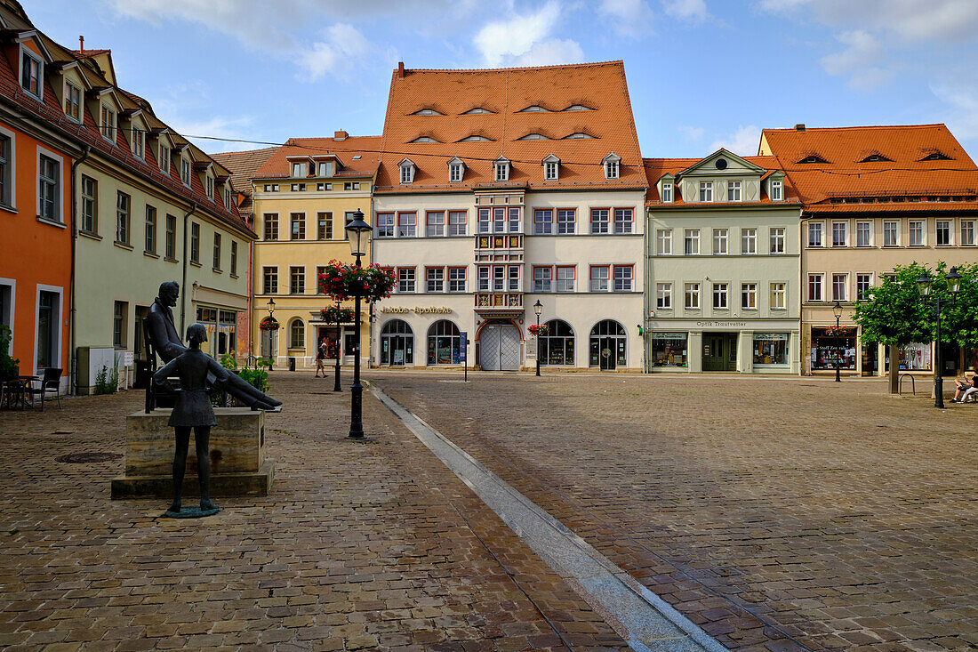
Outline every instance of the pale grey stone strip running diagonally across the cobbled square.
{"label": "pale grey stone strip running diagonally across the cobbled square", "polygon": [[575,589],[583,591],[582,597],[596,612],[601,616],[607,614],[612,623],[620,624],[624,631],[618,632],[632,649],[639,652],[727,649],[411,410],[376,386],[370,387],[380,402],[548,566],[569,580]]}

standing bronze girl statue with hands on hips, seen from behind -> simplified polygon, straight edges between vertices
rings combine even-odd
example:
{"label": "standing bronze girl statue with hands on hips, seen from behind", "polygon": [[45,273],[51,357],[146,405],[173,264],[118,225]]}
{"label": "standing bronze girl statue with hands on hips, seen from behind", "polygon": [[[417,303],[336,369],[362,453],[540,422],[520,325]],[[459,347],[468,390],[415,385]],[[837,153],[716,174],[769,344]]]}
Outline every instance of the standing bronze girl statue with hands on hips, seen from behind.
{"label": "standing bronze girl statue with hands on hips, seen from behind", "polygon": [[[227,384],[230,372],[200,350],[200,343],[207,341],[207,329],[203,324],[191,324],[187,328],[187,340],[190,349],[174,357],[153,375],[156,386],[168,392],[173,392],[173,387],[167,378],[180,378],[176,404],[168,422],[169,426],[176,429],[177,439],[176,453],[173,456],[173,504],[166,511],[166,515],[173,518],[210,516],[220,511],[210,500],[210,427],[217,425],[214,409],[210,406],[210,392],[221,390]],[[214,378],[211,387],[207,387],[208,374]],[[190,444],[191,428],[194,429],[197,447],[200,512],[181,512],[180,495],[187,470],[187,446]]]}

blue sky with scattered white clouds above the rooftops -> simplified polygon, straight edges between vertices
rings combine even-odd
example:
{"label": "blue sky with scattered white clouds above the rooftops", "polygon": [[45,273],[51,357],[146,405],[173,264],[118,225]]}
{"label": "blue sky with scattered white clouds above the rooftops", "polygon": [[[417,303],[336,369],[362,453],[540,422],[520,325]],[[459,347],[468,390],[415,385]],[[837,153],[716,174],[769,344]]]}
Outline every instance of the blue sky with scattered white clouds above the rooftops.
{"label": "blue sky with scattered white clouds above the rooftops", "polygon": [[[380,133],[407,68],[622,59],[645,157],[763,127],[946,122],[978,156],[978,0],[22,0],[188,135]],[[208,152],[257,145],[197,141]]]}

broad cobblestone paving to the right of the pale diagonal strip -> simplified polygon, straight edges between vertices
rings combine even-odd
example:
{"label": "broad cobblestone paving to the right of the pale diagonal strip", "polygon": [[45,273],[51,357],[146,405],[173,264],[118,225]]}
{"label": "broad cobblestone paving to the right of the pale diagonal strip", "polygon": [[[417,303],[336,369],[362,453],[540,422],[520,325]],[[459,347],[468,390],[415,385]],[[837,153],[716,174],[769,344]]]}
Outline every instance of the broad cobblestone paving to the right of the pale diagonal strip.
{"label": "broad cobblestone paving to the right of the pale diagonal strip", "polygon": [[974,406],[883,382],[370,377],[731,648],[978,649]]}

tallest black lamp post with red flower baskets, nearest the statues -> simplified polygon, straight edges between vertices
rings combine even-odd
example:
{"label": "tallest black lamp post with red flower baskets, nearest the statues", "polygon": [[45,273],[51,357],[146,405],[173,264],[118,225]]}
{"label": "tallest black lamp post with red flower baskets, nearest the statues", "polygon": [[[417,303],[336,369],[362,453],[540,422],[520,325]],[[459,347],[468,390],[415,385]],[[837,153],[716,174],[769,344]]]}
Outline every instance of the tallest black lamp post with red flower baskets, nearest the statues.
{"label": "tallest black lamp post with red flower baskets, nearest the statues", "polygon": [[350,434],[347,439],[363,440],[363,386],[360,384],[360,302],[378,302],[390,297],[394,289],[394,272],[377,264],[364,267],[360,258],[367,255],[367,244],[373,228],[364,221],[364,213],[357,210],[346,225],[346,237],[354,264],[331,260],[319,275],[319,291],[336,301],[354,299],[351,319],[353,337],[353,385],[350,386]]}

